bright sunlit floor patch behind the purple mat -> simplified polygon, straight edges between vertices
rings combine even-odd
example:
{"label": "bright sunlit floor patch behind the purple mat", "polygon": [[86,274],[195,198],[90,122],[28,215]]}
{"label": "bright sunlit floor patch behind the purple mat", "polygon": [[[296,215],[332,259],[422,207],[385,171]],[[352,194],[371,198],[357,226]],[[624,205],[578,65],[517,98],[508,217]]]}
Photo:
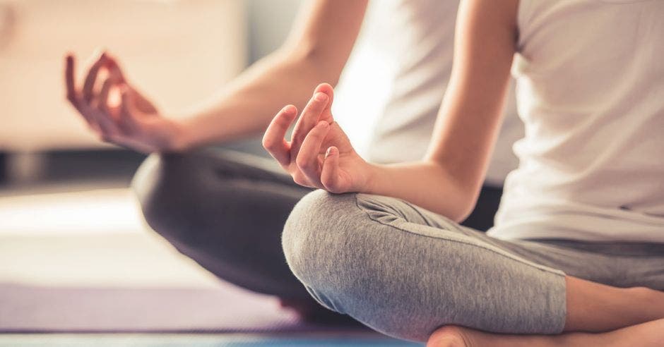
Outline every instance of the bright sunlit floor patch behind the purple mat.
{"label": "bright sunlit floor patch behind the purple mat", "polygon": [[187,286],[218,279],[144,224],[129,188],[0,197],[0,281]]}

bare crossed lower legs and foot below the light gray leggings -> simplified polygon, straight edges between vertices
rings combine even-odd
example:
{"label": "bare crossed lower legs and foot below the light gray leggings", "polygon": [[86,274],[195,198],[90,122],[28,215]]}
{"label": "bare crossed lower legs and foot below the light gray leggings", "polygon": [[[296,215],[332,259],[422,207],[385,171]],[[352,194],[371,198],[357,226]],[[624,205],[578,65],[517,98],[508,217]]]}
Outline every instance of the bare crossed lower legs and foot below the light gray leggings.
{"label": "bare crossed lower legs and foot below the light gray leggings", "polygon": [[563,334],[491,334],[446,326],[427,347],[664,346],[664,292],[617,288],[567,276],[567,320]]}

